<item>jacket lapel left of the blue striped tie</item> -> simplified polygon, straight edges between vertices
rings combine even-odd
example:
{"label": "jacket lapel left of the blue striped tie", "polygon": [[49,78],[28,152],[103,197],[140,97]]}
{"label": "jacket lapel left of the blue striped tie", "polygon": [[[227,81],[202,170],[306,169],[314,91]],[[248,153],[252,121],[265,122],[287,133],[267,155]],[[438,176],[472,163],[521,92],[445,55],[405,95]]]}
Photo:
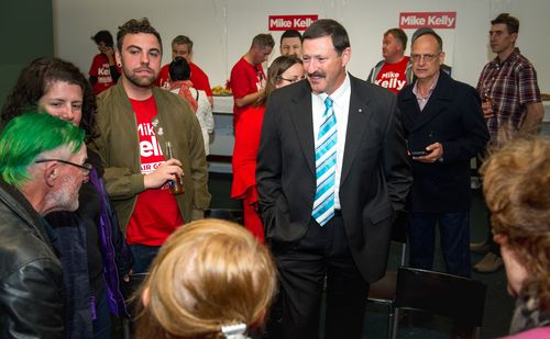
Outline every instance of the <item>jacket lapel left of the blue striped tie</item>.
{"label": "jacket lapel left of the blue striped tie", "polygon": [[311,108],[311,90],[307,80],[301,81],[301,90],[293,98],[294,105],[290,106],[290,118],[294,123],[295,133],[300,140],[301,151],[306,157],[309,169],[312,173],[315,168],[315,139],[314,139],[314,116]]}

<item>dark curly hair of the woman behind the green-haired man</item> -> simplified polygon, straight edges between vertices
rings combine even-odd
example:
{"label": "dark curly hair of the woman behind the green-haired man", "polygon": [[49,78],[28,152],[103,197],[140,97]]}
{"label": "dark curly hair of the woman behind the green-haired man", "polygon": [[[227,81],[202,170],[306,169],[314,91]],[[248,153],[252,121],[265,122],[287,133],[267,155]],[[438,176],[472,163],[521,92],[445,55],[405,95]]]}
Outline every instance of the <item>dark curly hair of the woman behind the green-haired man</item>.
{"label": "dark curly hair of the woman behind the green-haired man", "polygon": [[86,131],[86,142],[98,136],[96,127],[96,97],[82,72],[73,64],[59,58],[41,57],[21,71],[18,82],[2,108],[2,123],[30,111],[40,110],[38,101],[54,82],[77,84],[82,89],[82,118],[80,127]]}

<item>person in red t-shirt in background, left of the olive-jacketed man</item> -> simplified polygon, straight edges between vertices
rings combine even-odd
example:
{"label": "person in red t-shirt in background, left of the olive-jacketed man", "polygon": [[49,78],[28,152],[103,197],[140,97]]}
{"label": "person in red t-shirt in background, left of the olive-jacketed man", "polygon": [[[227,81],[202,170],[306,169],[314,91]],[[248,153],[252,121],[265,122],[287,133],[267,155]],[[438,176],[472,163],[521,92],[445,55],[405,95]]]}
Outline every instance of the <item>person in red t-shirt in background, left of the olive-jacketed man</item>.
{"label": "person in red t-shirt in background, left of the olive-jacketed man", "polygon": [[109,31],[99,31],[91,37],[98,45],[100,54],[94,57],[90,71],[88,72],[94,94],[99,94],[106,89],[114,86],[119,80],[120,71],[114,63],[114,48],[112,35]]}

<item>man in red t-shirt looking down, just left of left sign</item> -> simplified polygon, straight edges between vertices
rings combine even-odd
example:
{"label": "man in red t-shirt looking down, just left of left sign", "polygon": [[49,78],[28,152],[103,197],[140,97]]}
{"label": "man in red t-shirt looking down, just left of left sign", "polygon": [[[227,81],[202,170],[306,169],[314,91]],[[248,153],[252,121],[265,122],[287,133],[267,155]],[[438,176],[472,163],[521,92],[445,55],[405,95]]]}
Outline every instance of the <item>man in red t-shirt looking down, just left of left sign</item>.
{"label": "man in red t-shirt looking down, just left of left sign", "polygon": [[263,95],[265,72],[262,63],[272,54],[275,41],[271,34],[258,34],[252,39],[249,52],[231,69],[230,84],[233,92],[233,126],[239,116]]}

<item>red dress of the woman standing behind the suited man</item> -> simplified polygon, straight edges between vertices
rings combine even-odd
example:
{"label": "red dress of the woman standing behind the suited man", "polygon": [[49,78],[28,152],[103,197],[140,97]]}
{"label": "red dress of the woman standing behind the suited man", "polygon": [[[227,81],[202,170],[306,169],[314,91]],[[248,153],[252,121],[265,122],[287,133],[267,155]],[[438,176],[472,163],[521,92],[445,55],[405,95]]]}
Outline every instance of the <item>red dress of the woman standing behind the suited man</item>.
{"label": "red dress of the woman standing behind the suited man", "polygon": [[242,199],[244,204],[244,227],[262,244],[264,225],[256,212],[256,156],[260,148],[260,135],[265,108],[249,108],[241,113],[235,125],[235,145],[233,148],[233,185],[231,197]]}

